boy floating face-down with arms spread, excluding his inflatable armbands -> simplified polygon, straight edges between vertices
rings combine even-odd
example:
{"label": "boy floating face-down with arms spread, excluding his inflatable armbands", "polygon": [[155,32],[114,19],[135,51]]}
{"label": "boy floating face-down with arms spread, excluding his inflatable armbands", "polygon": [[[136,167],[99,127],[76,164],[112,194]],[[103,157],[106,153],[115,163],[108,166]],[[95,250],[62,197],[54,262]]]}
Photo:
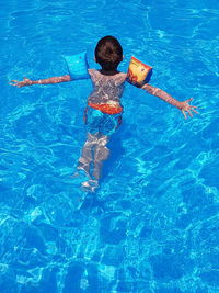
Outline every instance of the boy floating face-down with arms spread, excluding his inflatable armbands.
{"label": "boy floating face-down with arms spread, excluding his inflatable armbands", "polygon": [[[120,98],[127,78],[127,74],[117,70],[122,60],[123,48],[115,37],[105,36],[99,41],[95,47],[95,61],[101,65],[101,69],[89,69],[89,75],[93,83],[93,92],[88,98],[88,106],[84,111],[88,138],[77,167],[78,170],[83,170],[88,174],[89,180],[83,182],[82,185],[91,191],[94,191],[99,185],[103,161],[110,155],[106,146],[110,136],[117,129],[122,122],[123,106],[120,104]],[[12,84],[20,88],[66,81],[71,81],[69,75],[41,80],[24,78],[23,81],[13,80]],[[189,102],[193,100],[192,98],[180,102],[165,91],[149,83],[142,86],[141,89],[180,109],[185,119],[186,113],[191,116],[193,116],[192,111],[197,113],[195,110],[196,106],[189,105]]]}

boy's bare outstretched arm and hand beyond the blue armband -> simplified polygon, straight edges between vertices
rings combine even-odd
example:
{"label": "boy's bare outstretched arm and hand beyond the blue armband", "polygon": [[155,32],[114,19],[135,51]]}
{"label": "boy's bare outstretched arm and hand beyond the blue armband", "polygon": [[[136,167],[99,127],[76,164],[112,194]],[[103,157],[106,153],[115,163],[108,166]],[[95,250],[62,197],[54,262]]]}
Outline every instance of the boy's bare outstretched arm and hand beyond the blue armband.
{"label": "boy's bare outstretched arm and hand beyond the blue armband", "polygon": [[70,81],[71,78],[69,75],[67,76],[61,76],[61,77],[50,77],[46,79],[39,79],[39,80],[31,80],[28,78],[24,78],[23,81],[18,81],[18,80],[11,80],[10,84],[22,88],[26,86],[33,86],[33,84],[53,84],[53,83],[60,83],[60,82],[66,82]]}

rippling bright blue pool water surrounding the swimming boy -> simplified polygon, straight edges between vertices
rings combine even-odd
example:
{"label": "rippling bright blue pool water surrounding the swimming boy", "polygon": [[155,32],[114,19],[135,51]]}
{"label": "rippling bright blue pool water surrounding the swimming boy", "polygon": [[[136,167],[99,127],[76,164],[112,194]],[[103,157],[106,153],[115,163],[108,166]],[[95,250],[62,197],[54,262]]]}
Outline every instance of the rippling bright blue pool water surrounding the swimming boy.
{"label": "rippling bright blue pool water surrounding the swimming boy", "polygon": [[[0,3],[0,292],[219,292],[218,0]],[[118,37],[153,66],[151,84],[199,115],[127,84],[124,123],[95,194],[74,171],[90,81],[10,87],[66,75],[61,55]]]}

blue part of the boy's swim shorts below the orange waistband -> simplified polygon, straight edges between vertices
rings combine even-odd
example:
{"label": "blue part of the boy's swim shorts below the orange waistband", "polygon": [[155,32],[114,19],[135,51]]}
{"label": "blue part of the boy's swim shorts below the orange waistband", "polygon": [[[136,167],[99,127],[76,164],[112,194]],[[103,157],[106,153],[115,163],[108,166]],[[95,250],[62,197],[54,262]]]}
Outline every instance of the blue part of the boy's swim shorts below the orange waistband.
{"label": "blue part of the boy's swim shorts below the orange waistband", "polygon": [[112,135],[122,123],[122,113],[106,114],[94,108],[87,106],[83,119],[89,133]]}

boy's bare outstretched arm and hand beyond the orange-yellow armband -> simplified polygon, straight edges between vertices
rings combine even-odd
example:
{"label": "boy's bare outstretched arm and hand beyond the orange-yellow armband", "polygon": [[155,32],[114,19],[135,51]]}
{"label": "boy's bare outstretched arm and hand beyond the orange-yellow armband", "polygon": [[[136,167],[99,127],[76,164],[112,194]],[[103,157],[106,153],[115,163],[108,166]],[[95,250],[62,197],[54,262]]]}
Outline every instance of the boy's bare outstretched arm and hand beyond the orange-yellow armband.
{"label": "boy's bare outstretched arm and hand beyond the orange-yellow armband", "polygon": [[189,116],[193,116],[192,111],[198,114],[198,112],[195,110],[197,106],[189,105],[189,102],[193,100],[193,98],[185,100],[183,102],[180,102],[176,99],[174,99],[172,95],[170,95],[168,92],[165,92],[159,88],[155,88],[151,84],[146,83],[141,87],[141,89],[146,90],[150,94],[159,97],[160,99],[162,99],[166,103],[172,104],[172,105],[176,106],[177,109],[180,109],[185,119],[187,119],[186,112],[189,114]]}

